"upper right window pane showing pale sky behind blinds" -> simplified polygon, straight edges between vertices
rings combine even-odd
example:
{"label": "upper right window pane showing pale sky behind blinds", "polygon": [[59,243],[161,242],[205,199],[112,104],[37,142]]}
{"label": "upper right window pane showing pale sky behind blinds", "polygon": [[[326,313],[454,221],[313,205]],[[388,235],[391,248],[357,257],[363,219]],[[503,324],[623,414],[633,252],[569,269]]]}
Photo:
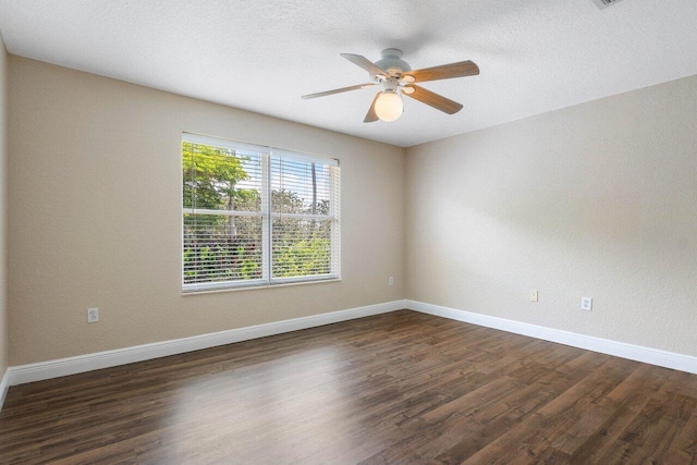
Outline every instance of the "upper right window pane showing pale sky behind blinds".
{"label": "upper right window pane showing pale sky behind blinds", "polygon": [[271,208],[273,212],[329,215],[330,167],[273,157],[271,160]]}

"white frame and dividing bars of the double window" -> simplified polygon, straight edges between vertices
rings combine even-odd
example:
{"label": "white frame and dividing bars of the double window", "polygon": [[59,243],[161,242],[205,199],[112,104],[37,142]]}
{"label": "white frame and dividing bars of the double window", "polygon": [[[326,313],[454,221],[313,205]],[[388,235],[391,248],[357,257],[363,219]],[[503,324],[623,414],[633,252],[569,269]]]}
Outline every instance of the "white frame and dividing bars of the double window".
{"label": "white frame and dividing bars of the double window", "polygon": [[[258,154],[261,158],[261,211],[236,211],[236,210],[210,210],[199,208],[184,208],[184,191],[183,179],[180,180],[180,192],[182,197],[180,198],[180,205],[182,206],[181,215],[181,232],[182,244],[180,248],[180,256],[182,259],[181,276],[182,276],[182,292],[195,293],[201,291],[218,291],[225,289],[252,289],[259,286],[270,286],[276,284],[290,284],[290,283],[304,283],[304,282],[317,282],[328,280],[341,279],[341,222],[340,222],[340,170],[339,160],[328,157],[315,156],[309,154],[296,152],[280,148],[259,146],[253,144],[241,143],[236,140],[230,140],[218,137],[204,136],[192,133],[182,133],[182,143],[201,144],[215,147],[230,148],[234,150],[248,150],[254,154]],[[180,158],[182,156],[180,146]],[[303,213],[280,213],[271,211],[271,162],[274,158],[288,158],[297,161],[315,162],[325,166],[332,167],[330,169],[330,212],[329,215],[303,215]],[[182,161],[183,162],[183,161]],[[182,172],[182,170],[180,170]],[[182,174],[183,176],[183,174]],[[237,280],[237,281],[216,281],[216,282],[203,282],[203,283],[185,283],[184,282],[184,215],[222,215],[222,216],[235,216],[235,217],[260,217],[261,218],[261,278],[254,280]],[[308,220],[328,220],[331,221],[331,237],[330,237],[330,267],[331,271],[327,274],[314,274],[303,277],[285,277],[273,278],[273,262],[272,262],[272,220],[274,218],[297,218]]]}

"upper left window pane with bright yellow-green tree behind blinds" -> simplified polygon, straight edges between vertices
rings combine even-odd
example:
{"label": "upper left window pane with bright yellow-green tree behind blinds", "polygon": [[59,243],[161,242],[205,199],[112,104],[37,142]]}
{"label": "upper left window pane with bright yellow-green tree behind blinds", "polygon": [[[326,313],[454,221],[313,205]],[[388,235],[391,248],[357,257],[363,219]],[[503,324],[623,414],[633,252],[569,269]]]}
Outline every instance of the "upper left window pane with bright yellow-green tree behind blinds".
{"label": "upper left window pane with bright yellow-green tree behind blinds", "polygon": [[182,143],[184,208],[261,210],[261,156]]}

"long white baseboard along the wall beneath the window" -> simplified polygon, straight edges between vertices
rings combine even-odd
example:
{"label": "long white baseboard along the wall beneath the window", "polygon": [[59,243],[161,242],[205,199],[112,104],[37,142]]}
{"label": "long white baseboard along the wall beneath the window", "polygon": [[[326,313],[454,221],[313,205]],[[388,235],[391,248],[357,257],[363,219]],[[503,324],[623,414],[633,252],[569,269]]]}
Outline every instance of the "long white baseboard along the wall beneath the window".
{"label": "long white baseboard along the wall beneath the window", "polygon": [[267,335],[315,328],[323,325],[368,317],[371,315],[386,314],[389,311],[401,310],[405,308],[404,305],[404,301],[394,301],[384,304],[368,305],[365,307],[294,318],[291,320],[274,321],[253,327],[194,335],[191,338],[155,342],[133,347],[117,348],[114,351],[98,352],[78,355],[75,357],[10,367],[8,368],[5,377],[2,379],[2,386],[8,383],[9,386],[23,384],[26,382],[40,381],[84,371],[115,367],[118,365],[132,364],[134,362],[149,360],[152,358],[166,357],[168,355],[215,347],[217,345],[225,345],[250,339],[265,338]]}

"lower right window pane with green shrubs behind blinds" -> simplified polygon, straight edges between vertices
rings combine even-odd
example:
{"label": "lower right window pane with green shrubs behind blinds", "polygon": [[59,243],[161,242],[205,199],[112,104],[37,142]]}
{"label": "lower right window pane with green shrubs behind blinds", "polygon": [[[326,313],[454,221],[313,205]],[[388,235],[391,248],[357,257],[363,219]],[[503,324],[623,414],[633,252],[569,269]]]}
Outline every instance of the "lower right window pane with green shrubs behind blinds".
{"label": "lower right window pane with green shrubs behind blinds", "polygon": [[331,220],[273,218],[272,278],[331,274]]}

